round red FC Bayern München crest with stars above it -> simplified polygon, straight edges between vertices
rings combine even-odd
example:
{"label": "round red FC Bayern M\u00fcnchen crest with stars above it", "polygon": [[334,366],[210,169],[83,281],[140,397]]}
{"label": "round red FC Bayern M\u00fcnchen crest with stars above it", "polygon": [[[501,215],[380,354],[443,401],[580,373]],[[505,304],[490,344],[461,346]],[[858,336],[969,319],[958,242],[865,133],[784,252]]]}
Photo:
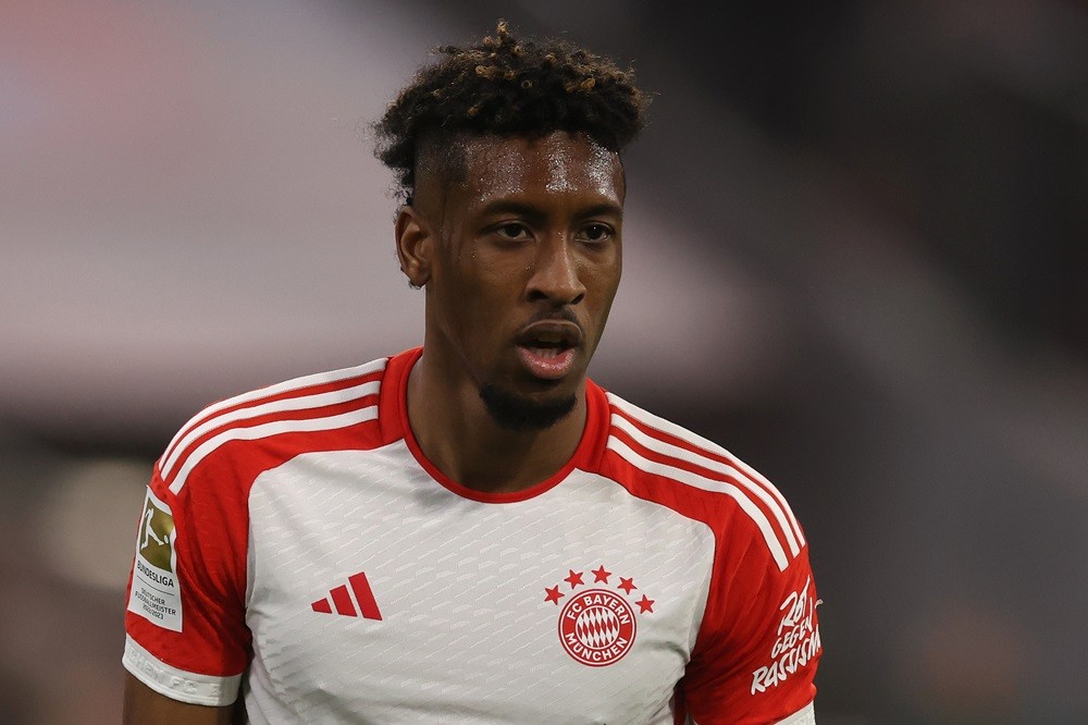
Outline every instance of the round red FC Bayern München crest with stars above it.
{"label": "round red FC Bayern M\u00fcnchen crest with stars above it", "polygon": [[[604,566],[591,574],[595,585],[607,585],[613,576]],[[561,592],[561,585],[546,587],[544,601],[559,605],[560,599],[567,599],[559,611],[559,642],[562,649],[577,662],[603,667],[619,661],[630,651],[638,624],[634,610],[625,595],[605,587],[581,589],[585,585],[582,577],[582,572],[571,569],[564,579],[570,585],[570,591]],[[627,595],[638,589],[633,579],[627,577],[619,577],[615,588]],[[654,611],[654,600],[645,595],[635,604],[641,614]]]}

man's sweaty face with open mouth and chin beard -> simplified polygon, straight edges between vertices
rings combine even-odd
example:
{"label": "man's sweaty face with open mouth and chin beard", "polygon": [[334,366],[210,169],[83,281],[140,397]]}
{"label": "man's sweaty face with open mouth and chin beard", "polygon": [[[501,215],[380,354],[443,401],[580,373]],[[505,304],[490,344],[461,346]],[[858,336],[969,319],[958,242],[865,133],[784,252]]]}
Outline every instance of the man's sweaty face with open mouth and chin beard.
{"label": "man's sweaty face with open mouth and chin beard", "polygon": [[465,169],[444,188],[419,180],[413,258],[398,223],[426,290],[424,359],[499,423],[546,427],[580,400],[619,285],[622,168],[556,133],[466,142]]}

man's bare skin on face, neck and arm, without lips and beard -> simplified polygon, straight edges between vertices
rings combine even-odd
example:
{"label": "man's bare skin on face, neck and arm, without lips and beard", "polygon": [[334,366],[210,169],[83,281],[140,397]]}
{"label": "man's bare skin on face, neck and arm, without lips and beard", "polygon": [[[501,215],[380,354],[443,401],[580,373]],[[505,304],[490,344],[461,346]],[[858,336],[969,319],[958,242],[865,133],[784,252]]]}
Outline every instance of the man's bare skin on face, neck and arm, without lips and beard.
{"label": "man's bare skin on face, neck and arm, without lips and beard", "polygon": [[[425,290],[424,353],[408,380],[420,447],[446,476],[491,493],[522,491],[556,474],[585,427],[586,367],[619,286],[623,170],[584,136],[466,142],[466,180],[418,180],[396,221],[408,280]],[[579,330],[569,371],[542,379],[520,361],[527,325],[564,319]],[[491,417],[480,386],[527,401],[574,397],[543,430]],[[225,725],[235,706],[177,702],[125,683],[124,723]],[[239,721],[240,722],[240,721]]]}

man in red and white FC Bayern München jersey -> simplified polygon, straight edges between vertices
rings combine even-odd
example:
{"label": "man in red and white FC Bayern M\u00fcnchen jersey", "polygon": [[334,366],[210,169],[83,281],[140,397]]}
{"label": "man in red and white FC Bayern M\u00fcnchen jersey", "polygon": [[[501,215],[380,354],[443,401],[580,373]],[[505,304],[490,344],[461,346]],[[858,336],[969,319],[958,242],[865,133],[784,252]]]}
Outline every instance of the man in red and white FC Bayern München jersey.
{"label": "man in red and white FC Bayern M\u00fcnchen jersey", "polygon": [[443,52],[378,126],[423,345],[212,405],[170,443],[127,721],[813,722],[786,501],[586,378],[644,95],[502,23]]}

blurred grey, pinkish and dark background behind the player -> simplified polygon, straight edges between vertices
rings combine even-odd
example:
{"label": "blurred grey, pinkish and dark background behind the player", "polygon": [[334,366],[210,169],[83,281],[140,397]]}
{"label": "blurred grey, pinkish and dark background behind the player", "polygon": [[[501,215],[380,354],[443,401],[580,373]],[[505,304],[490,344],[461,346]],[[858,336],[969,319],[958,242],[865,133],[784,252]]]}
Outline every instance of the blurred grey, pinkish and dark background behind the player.
{"label": "blurred grey, pinkish and dark background behind the player", "polygon": [[594,376],[793,504],[820,724],[1088,722],[1072,0],[3,0],[0,722],[119,718],[190,415],[420,341],[368,124],[497,17],[655,95]]}

